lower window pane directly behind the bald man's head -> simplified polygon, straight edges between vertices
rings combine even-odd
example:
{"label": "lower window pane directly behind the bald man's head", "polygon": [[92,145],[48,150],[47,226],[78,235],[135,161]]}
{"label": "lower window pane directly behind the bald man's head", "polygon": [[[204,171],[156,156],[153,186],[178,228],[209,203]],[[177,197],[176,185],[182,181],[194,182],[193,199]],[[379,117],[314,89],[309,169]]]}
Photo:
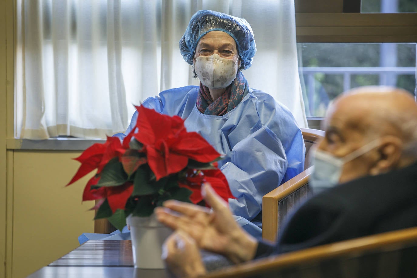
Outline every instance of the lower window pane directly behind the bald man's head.
{"label": "lower window pane directly behind the bald man's head", "polygon": [[389,85],[414,92],[415,43],[298,43],[306,115],[323,117],[343,92]]}

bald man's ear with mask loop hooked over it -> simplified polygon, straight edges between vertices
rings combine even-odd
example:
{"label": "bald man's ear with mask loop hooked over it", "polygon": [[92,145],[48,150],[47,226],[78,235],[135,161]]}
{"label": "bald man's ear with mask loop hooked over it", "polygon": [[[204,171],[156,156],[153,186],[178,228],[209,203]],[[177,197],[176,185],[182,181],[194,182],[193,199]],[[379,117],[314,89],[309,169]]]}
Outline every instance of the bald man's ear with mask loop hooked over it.
{"label": "bald man's ear with mask loop hooked over it", "polygon": [[377,148],[379,160],[370,170],[371,175],[386,173],[397,167],[402,153],[402,140],[396,136],[385,136],[382,144]]}

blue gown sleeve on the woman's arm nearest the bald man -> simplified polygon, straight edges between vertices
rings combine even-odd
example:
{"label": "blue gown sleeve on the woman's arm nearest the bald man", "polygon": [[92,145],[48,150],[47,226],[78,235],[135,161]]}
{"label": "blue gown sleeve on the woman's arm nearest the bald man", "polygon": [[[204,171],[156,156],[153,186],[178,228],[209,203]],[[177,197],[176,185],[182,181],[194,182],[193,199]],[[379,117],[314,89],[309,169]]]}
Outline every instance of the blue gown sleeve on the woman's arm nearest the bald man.
{"label": "blue gown sleeve on the woman's arm nearest the bald man", "polygon": [[304,170],[304,140],[292,114],[271,98],[259,103],[259,122],[221,168],[236,197],[229,207],[250,221],[261,212],[266,193]]}

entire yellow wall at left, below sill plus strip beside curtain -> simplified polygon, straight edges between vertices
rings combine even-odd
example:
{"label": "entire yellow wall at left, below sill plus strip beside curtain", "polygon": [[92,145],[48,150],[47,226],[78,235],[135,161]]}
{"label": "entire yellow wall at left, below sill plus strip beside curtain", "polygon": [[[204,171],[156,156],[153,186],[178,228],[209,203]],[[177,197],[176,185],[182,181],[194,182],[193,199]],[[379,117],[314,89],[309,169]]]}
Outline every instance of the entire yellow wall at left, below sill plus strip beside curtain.
{"label": "entire yellow wall at left, below sill plus strip beside curtain", "polygon": [[0,278],[21,278],[78,246],[93,232],[87,178],[64,188],[80,152],[7,149],[13,140],[14,0],[0,1]]}

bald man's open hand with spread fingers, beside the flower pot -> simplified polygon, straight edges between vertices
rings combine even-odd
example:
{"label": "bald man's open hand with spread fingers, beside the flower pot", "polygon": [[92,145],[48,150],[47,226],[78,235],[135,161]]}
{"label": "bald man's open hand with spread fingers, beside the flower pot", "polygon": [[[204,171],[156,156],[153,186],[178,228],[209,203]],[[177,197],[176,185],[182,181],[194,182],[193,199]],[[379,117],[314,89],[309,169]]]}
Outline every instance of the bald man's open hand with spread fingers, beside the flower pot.
{"label": "bald man's open hand with spread fingers, beside the flower pot", "polygon": [[158,220],[191,235],[198,247],[223,254],[234,263],[254,258],[258,242],[236,223],[227,203],[208,184],[201,193],[212,210],[168,200],[163,204],[166,208],[156,208]]}

